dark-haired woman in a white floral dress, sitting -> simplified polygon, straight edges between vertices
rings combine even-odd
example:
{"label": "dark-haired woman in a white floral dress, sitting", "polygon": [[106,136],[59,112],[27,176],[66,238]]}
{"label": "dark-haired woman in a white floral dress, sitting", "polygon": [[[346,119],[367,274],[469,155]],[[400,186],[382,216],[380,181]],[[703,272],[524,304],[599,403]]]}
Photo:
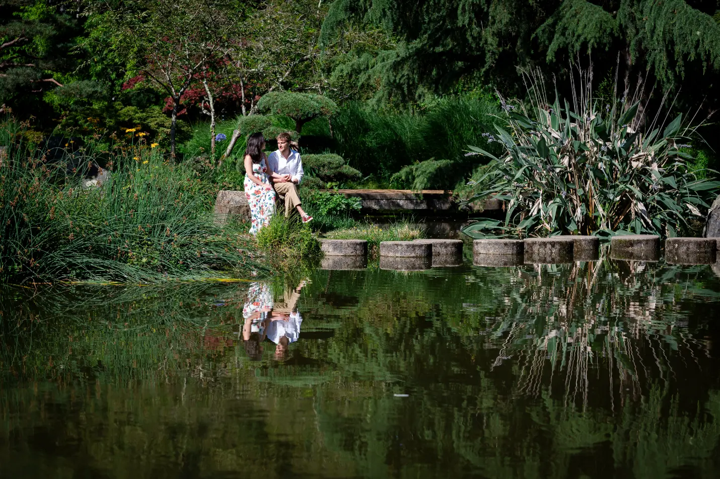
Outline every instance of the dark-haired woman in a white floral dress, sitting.
{"label": "dark-haired woman in a white floral dress, sitting", "polygon": [[265,138],[262,133],[253,133],[245,149],[245,196],[251,213],[251,234],[270,223],[275,211],[275,190],[268,178]]}

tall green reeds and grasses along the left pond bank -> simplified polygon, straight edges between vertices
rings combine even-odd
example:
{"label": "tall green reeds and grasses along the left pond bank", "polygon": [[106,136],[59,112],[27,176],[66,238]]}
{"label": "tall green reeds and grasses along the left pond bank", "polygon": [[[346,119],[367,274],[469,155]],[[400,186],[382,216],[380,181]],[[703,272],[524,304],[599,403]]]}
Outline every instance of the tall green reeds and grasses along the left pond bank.
{"label": "tall green reeds and grasses along the left pond bank", "polygon": [[0,144],[9,155],[0,167],[2,282],[138,283],[264,271],[246,237],[213,224],[212,197],[192,171],[170,165],[156,149],[117,152],[109,179],[83,187],[92,150],[68,175],[65,163],[15,140],[17,124],[3,126]]}

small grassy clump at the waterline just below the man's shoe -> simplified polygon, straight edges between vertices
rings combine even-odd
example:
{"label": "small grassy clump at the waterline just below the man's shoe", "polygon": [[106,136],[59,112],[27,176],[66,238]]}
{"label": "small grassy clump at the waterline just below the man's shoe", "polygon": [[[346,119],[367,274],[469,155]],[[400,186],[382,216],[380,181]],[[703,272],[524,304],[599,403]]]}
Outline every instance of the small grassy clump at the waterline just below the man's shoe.
{"label": "small grassy clump at the waterline just below the man's shoe", "polygon": [[318,260],[320,242],[310,226],[302,224],[296,214],[285,218],[275,214],[270,224],[257,234],[258,247],[265,253],[271,268],[287,271],[302,268]]}

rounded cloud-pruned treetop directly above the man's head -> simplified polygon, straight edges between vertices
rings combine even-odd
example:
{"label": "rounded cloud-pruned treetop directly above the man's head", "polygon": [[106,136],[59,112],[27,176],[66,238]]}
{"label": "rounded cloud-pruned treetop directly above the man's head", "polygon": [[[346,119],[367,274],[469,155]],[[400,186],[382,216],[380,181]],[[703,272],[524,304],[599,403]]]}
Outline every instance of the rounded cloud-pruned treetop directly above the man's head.
{"label": "rounded cloud-pruned treetop directly above the man's head", "polygon": [[318,117],[332,117],[338,112],[335,101],[315,93],[271,91],[258,101],[258,113],[289,117],[295,122],[295,131],[302,132],[302,125]]}

